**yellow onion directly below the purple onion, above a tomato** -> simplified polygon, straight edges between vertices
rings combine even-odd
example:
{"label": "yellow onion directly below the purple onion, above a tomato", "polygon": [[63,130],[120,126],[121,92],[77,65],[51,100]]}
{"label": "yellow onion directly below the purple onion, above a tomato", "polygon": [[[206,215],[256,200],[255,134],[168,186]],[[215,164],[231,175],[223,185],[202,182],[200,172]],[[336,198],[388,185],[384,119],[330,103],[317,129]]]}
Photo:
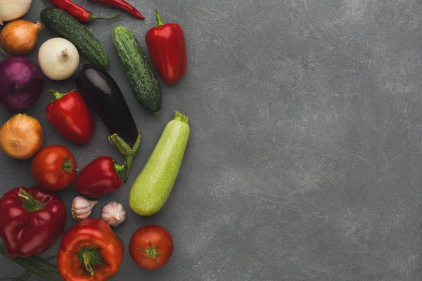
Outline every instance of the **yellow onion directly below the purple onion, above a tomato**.
{"label": "yellow onion directly below the purple onion, above a tomato", "polygon": [[39,152],[44,134],[38,120],[25,114],[17,114],[0,128],[0,148],[16,159],[28,159]]}

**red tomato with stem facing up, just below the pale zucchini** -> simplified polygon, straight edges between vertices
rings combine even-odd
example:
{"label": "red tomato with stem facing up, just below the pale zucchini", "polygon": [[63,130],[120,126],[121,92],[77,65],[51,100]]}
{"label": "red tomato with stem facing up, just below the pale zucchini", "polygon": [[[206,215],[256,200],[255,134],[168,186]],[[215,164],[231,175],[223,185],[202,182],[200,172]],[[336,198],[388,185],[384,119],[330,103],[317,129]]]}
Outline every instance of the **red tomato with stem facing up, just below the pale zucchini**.
{"label": "red tomato with stem facing up, just below the pale zucchini", "polygon": [[132,235],[129,254],[143,269],[162,268],[173,254],[172,235],[162,226],[143,226]]}

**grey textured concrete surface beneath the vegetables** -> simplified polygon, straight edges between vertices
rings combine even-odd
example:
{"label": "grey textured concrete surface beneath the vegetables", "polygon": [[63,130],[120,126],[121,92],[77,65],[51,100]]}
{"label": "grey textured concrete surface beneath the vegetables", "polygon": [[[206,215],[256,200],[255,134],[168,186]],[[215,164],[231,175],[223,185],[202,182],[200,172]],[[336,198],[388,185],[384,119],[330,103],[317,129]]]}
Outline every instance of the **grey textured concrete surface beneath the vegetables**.
{"label": "grey textured concrete surface beneath the vegetables", "polygon": [[[43,8],[34,2],[25,16],[32,21]],[[101,198],[93,217],[110,200],[121,202],[128,218],[115,231],[126,244],[156,223],[170,230],[175,250],[156,272],[137,268],[126,250],[113,280],[422,279],[421,1],[131,3],[145,21],[122,13],[89,25],[143,131],[129,183]],[[111,42],[113,27],[125,25],[145,48],[155,8],[184,27],[188,46],[186,77],[172,87],[160,79],[158,116],[136,103]],[[54,36],[43,30],[38,46]],[[37,51],[30,58],[37,61]],[[75,84],[47,81],[51,88]],[[91,145],[65,141],[46,121],[50,99],[45,93],[26,111],[43,125],[45,145],[68,145],[81,167],[99,155],[121,159],[98,117]],[[174,110],[191,118],[186,157],[165,207],[142,218],[129,209],[130,183]],[[0,121],[12,114],[1,108]],[[0,195],[34,185],[30,161],[1,154],[0,167]],[[58,194],[70,207],[77,192]],[[21,273],[7,259],[0,266],[0,277]]]}

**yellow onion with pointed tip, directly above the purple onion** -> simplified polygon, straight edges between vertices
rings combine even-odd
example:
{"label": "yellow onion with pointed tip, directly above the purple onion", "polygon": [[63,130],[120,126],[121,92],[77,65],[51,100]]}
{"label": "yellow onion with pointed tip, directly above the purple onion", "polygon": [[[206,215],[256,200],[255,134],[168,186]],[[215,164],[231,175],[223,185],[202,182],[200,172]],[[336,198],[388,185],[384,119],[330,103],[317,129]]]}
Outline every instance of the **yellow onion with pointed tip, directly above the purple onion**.
{"label": "yellow onion with pointed tip, directly above the purple onion", "polygon": [[27,55],[35,48],[44,25],[27,20],[13,20],[0,32],[0,48],[7,55]]}

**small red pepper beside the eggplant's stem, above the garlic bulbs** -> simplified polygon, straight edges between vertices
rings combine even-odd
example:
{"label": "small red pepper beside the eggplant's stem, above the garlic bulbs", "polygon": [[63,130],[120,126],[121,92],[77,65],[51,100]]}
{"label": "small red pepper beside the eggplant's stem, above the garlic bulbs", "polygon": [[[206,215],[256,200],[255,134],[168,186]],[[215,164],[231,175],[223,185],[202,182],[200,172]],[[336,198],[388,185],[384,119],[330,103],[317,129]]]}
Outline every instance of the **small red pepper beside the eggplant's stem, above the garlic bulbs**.
{"label": "small red pepper beside the eggplant's stem, above the garlic bulbs", "polygon": [[117,190],[123,183],[120,171],[124,168],[124,165],[117,165],[112,157],[98,157],[79,173],[76,190],[89,198],[98,198]]}

